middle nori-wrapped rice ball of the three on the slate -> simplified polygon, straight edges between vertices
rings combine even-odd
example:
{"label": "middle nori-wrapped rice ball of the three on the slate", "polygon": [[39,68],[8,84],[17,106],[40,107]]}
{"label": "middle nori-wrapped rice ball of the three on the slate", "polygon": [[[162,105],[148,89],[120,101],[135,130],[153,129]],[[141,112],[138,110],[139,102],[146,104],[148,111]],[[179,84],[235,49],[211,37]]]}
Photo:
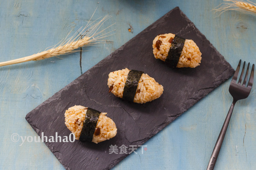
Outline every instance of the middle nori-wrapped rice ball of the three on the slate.
{"label": "middle nori-wrapped rice ball of the three on the slate", "polygon": [[163,94],[164,88],[154,78],[128,68],[108,74],[109,92],[135,103],[146,103]]}

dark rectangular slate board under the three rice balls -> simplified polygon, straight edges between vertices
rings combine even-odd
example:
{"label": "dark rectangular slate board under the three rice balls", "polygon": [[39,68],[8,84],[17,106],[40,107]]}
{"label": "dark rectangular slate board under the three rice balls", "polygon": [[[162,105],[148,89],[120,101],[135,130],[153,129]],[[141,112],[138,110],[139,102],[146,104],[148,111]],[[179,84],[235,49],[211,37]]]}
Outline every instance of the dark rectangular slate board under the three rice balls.
{"label": "dark rectangular slate board under the three rice balls", "polygon": [[[160,33],[193,39],[202,52],[196,68],[171,68],[154,58],[152,41]],[[124,101],[108,94],[111,71],[144,71],[164,86],[163,95],[149,103]],[[109,146],[142,145],[234,73],[233,68],[178,7],[148,26],[114,53],[68,84],[26,116],[41,136],[68,136],[65,110],[74,105],[108,112],[116,123],[116,137],[101,142],[46,142],[66,169],[110,169],[128,154],[109,154]],[[39,161],[39,160],[38,160]],[[153,160],[152,160],[153,161]]]}

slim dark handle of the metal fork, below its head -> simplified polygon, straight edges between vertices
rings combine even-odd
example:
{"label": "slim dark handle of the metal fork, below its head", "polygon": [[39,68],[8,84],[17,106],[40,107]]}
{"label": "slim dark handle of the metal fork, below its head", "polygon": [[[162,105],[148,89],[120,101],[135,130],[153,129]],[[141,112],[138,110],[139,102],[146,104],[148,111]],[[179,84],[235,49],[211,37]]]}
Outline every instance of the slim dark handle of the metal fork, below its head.
{"label": "slim dark handle of the metal fork, below its head", "polygon": [[216,163],[218,155],[220,153],[220,148],[221,148],[223,139],[224,139],[226,131],[228,129],[228,124],[229,124],[229,121],[230,121],[230,118],[231,118],[231,115],[232,115],[235,104],[236,104],[236,101],[233,100],[233,102],[230,106],[230,109],[228,110],[228,115],[225,119],[225,122],[224,122],[222,128],[221,128],[220,135],[219,135],[219,137],[217,139],[217,142],[214,146],[214,149],[212,151],[212,156],[211,156],[211,159],[209,161],[209,164],[208,164],[206,170],[213,170],[214,169],[215,163]]}

